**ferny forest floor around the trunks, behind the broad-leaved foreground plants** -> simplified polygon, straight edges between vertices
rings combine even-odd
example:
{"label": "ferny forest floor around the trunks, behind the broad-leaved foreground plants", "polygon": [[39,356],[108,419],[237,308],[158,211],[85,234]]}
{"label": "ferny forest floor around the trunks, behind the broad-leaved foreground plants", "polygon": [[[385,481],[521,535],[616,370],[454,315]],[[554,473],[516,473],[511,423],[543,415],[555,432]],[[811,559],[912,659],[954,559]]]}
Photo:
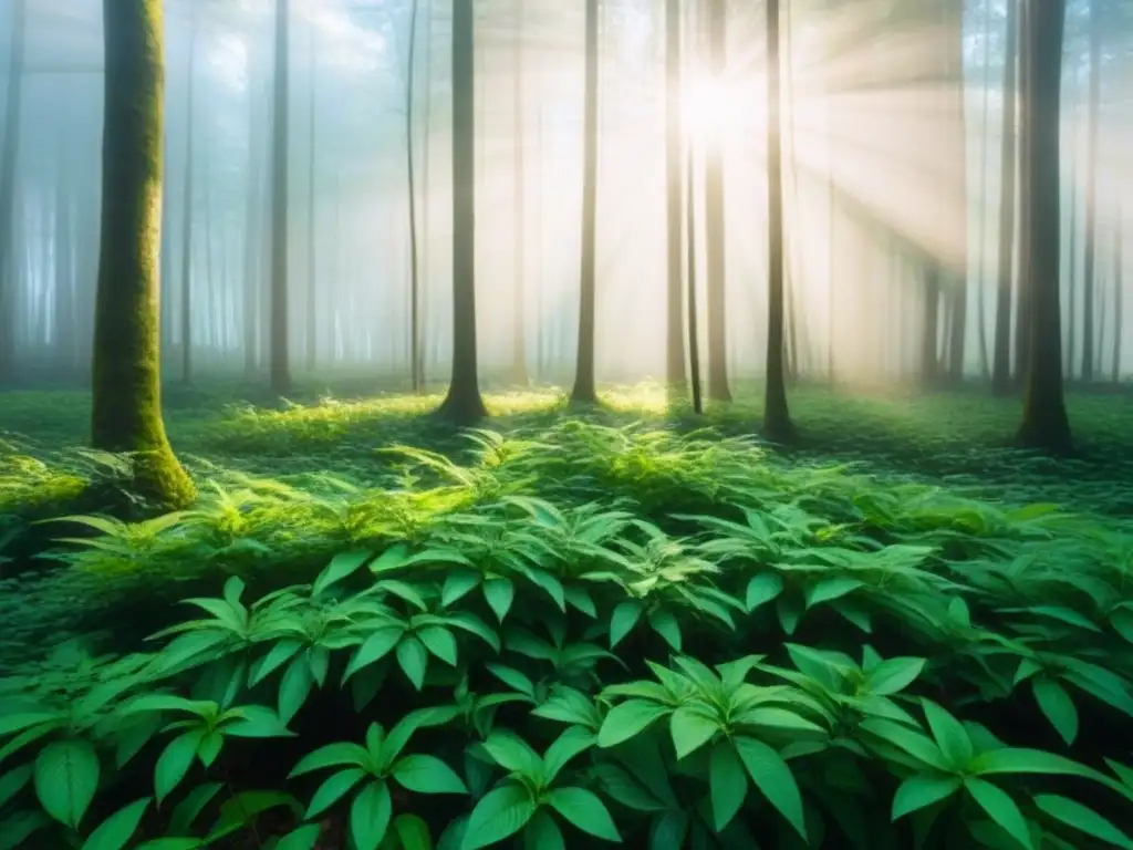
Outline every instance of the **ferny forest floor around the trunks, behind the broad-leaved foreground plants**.
{"label": "ferny forest floor around the trunks, behind the broad-leaved foreground plants", "polygon": [[[708,560],[718,560],[719,550],[701,543],[704,535],[738,533],[721,522],[742,525],[744,517],[759,538],[748,543],[770,545],[774,534],[759,530],[755,510],[799,539],[825,545],[844,537],[840,551],[872,545],[867,537],[915,549],[913,561],[927,559],[953,589],[961,581],[961,595],[1013,635],[1034,632],[1000,612],[1030,605],[1046,612],[1040,628],[1063,630],[1043,632],[1051,645],[1079,646],[1099,630],[1133,640],[1133,606],[1118,604],[1133,586],[1128,394],[1072,396],[1080,453],[1055,460],[1011,448],[1017,399],[974,391],[849,397],[796,388],[791,403],[801,439],[786,450],[750,436],[760,410],[742,399],[758,398],[757,386],[738,386],[740,402],[709,405],[702,417],[683,405],[674,409],[648,385],[611,390],[600,409],[582,416],[555,390],[493,393],[483,431],[465,434],[424,416],[438,397],[366,397],[348,383],[332,389],[333,396],[298,391],[295,403],[280,408],[256,406],[254,393],[236,384],[169,386],[168,432],[201,498],[189,511],[137,522],[100,516],[129,494],[116,484],[119,459],[78,448],[87,394],[0,394],[0,697],[82,690],[84,677],[142,649],[146,635],[181,617],[167,603],[219,595],[230,576],[262,596],[312,581],[346,550],[428,541],[445,518],[501,505],[519,505],[545,525],[566,521],[547,510],[623,511],[654,538],[627,542],[623,551],[661,535],[678,546],[707,546],[696,551],[697,558],[716,552]],[[816,524],[818,537],[800,530]],[[467,539],[462,545],[475,549]],[[1097,581],[1066,579],[1071,569]],[[826,600],[866,632],[877,602],[870,587],[884,585],[875,578],[869,569],[851,570]],[[777,586],[785,593],[782,580]],[[761,602],[752,593],[749,612]],[[863,603],[851,604],[859,593]],[[795,628],[818,602],[807,595],[804,609],[792,612],[786,598],[776,602],[785,636],[811,637]],[[704,604],[701,614],[715,615]],[[1109,668],[1121,675],[1133,673],[1124,646]],[[1087,654],[1108,657],[1108,648],[1094,649]],[[928,657],[932,652],[921,648]],[[1119,697],[1106,690],[1092,694],[1094,702],[1128,714],[1133,686],[1122,679],[1113,687]],[[1080,734],[1076,714],[1071,734],[1049,703],[1039,708],[1040,721],[1045,715],[1067,746],[1077,738],[1091,763],[1133,746],[1133,736],[1096,741],[1085,725]],[[1094,716],[1093,706],[1081,711]],[[1049,728],[1034,734],[1033,746],[1062,746]]]}

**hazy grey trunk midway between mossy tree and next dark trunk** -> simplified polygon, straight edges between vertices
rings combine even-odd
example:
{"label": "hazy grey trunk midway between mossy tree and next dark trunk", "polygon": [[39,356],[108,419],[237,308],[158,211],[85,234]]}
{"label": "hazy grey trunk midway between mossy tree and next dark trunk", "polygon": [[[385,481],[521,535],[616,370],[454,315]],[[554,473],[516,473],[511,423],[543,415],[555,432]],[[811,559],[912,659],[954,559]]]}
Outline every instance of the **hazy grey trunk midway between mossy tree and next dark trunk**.
{"label": "hazy grey trunk midway between mossy tree and next dark trunk", "polygon": [[272,113],[272,290],[269,372],[271,389],[283,396],[291,389],[288,354],[288,67],[290,0],[275,0],[275,85]]}

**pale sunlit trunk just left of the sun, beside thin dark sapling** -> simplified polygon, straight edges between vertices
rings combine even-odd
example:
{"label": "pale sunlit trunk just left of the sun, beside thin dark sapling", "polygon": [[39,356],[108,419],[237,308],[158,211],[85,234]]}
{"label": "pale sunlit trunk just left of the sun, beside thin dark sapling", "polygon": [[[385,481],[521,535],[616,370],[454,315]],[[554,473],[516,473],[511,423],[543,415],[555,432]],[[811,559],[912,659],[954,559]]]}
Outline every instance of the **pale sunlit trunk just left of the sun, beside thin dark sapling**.
{"label": "pale sunlit trunk just left of the sun, beside thin dark sapling", "polygon": [[665,173],[666,240],[668,260],[667,324],[665,334],[665,379],[670,386],[683,386],[684,374],[684,292],[681,283],[681,241],[684,206],[681,202],[681,2],[665,0]]}

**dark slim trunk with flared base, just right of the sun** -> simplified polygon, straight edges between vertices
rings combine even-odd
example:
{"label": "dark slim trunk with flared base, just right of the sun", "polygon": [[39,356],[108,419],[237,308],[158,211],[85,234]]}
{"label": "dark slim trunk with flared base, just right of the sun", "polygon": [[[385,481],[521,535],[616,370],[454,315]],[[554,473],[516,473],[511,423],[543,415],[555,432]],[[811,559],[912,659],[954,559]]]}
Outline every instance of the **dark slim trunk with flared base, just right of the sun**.
{"label": "dark slim trunk with flared base, just right of the sun", "polygon": [[780,127],[780,0],[767,0],[767,380],[764,435],[785,442],[794,436],[786,403],[783,311],[783,136]]}

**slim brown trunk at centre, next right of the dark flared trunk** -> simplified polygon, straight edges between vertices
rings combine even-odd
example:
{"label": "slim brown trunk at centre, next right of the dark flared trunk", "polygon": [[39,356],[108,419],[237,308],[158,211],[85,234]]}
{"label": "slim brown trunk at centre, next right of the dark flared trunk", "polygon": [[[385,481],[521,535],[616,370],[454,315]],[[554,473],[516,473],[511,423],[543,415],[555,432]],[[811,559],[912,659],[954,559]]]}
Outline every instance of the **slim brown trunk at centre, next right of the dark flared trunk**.
{"label": "slim brown trunk at centre, next right of the dark flared trunk", "polygon": [[582,124],[582,267],[579,280],[578,359],[571,400],[595,403],[595,229],[598,188],[598,0],[586,0],[586,103]]}

